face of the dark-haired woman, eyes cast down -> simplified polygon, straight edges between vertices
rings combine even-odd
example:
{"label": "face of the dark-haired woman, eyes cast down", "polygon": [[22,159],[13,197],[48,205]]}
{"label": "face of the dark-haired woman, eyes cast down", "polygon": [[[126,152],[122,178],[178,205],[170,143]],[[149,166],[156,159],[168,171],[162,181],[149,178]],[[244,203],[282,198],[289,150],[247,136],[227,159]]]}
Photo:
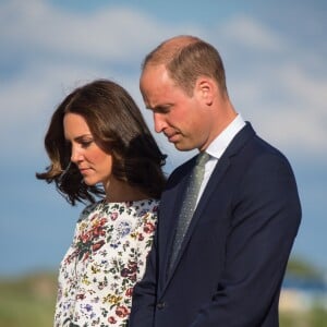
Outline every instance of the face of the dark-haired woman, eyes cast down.
{"label": "face of the dark-haired woman, eyes cast down", "polygon": [[71,146],[71,161],[80,169],[87,185],[109,184],[112,173],[112,156],[95,142],[85,119],[77,113],[65,113],[64,137]]}

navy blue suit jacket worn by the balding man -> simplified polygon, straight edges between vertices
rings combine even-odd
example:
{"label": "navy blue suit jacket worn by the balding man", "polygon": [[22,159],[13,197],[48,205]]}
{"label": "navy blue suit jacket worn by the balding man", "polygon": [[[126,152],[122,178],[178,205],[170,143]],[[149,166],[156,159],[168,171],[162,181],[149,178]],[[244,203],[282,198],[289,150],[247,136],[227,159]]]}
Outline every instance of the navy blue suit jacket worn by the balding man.
{"label": "navy blue suit jacket worn by the balding man", "polygon": [[288,160],[246,123],[219,159],[168,272],[194,164],[192,158],[168,180],[129,326],[278,326],[281,282],[301,220]]}

